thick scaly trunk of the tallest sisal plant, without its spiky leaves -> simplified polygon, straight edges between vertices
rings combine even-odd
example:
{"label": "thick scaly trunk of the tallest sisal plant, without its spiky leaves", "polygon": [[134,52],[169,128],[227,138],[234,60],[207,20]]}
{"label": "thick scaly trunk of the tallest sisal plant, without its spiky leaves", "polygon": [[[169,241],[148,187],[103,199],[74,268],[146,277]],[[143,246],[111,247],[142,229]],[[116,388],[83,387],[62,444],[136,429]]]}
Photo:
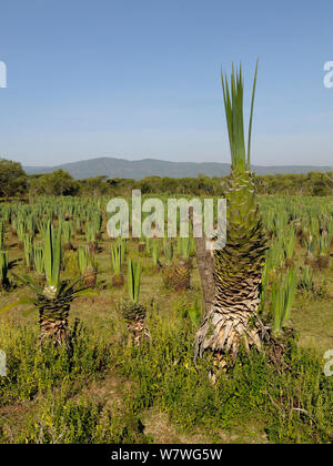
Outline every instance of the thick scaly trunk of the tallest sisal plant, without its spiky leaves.
{"label": "thick scaly trunk of the tallest sisal plant, without its spiky leaves", "polygon": [[242,344],[260,348],[268,337],[258,316],[266,240],[251,179],[231,179],[230,184],[225,247],[206,251],[208,241],[196,240],[205,315],[195,335],[195,357],[208,350],[234,362]]}

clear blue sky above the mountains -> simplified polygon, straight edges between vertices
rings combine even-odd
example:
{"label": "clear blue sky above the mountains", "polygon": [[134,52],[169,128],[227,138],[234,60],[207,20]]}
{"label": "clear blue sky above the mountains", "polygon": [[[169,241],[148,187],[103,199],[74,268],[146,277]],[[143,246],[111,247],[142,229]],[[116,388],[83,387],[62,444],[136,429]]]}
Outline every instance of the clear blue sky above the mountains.
{"label": "clear blue sky above the mountains", "polygon": [[229,162],[220,65],[243,63],[252,162],[331,165],[333,3],[2,0],[0,154]]}

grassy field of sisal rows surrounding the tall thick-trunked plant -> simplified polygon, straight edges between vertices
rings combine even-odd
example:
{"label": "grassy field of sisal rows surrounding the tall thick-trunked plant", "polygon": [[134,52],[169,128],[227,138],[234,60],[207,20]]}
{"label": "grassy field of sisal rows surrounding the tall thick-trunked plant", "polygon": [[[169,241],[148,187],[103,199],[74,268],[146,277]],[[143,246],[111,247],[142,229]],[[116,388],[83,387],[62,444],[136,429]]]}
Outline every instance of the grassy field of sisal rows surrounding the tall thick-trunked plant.
{"label": "grassy field of sisal rows surrounding the tall thick-trunked plant", "polygon": [[214,381],[194,239],[110,239],[108,201],[0,205],[0,440],[332,440],[333,199],[260,199],[259,314],[292,337]]}

